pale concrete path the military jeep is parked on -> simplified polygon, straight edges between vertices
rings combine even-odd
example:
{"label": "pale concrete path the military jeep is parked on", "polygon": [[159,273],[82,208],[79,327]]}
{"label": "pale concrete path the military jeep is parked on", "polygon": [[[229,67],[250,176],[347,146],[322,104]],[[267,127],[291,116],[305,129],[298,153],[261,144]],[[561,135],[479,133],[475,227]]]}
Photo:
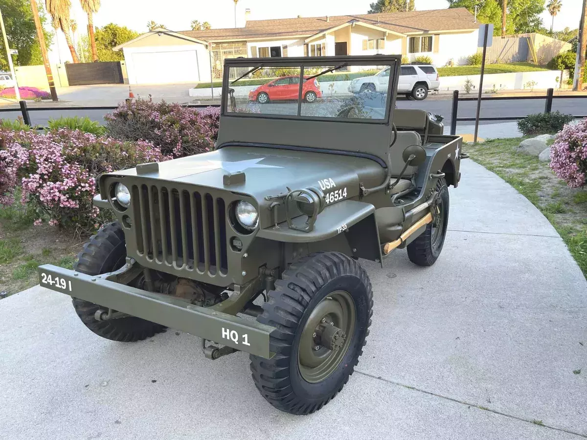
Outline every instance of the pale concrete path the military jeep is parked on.
{"label": "pale concrete path the military jeep is parked on", "polygon": [[383,270],[362,262],[372,330],[316,414],[267,404],[245,354],[207,360],[171,329],[103,340],[69,297],[34,287],[0,301],[0,439],[587,437],[587,282],[527,199],[471,161],[461,170],[436,265],[405,251]]}

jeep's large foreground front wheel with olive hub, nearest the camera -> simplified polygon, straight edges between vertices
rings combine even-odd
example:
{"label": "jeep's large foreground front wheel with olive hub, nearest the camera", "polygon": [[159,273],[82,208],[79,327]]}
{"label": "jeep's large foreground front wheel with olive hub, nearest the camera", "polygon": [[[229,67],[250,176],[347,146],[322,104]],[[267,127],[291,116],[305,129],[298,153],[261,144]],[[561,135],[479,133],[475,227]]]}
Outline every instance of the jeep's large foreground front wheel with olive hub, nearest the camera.
{"label": "jeep's large foreground front wheel with olive hub, nearest the camera", "polygon": [[363,353],[373,293],[358,262],[320,252],[289,266],[268,292],[260,323],[274,326],[275,356],[251,355],[261,395],[290,414],[311,414],[338,394]]}

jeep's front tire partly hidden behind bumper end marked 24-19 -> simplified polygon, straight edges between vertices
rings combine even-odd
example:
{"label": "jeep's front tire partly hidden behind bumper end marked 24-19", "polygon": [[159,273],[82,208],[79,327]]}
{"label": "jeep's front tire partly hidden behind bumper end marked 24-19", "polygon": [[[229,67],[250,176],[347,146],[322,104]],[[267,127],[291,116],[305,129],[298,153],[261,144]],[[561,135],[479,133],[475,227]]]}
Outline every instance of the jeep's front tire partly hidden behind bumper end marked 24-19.
{"label": "jeep's front tire partly hidden behind bumper end marked 24-19", "polygon": [[[125,262],[126,243],[122,225],[119,222],[112,222],[100,228],[96,235],[83,245],[73,270],[87,275],[100,275],[122,268]],[[112,341],[140,341],[166,329],[160,324],[134,316],[97,321],[94,315],[97,310],[104,307],[75,297],[72,298],[72,302],[77,316],[88,329]]]}

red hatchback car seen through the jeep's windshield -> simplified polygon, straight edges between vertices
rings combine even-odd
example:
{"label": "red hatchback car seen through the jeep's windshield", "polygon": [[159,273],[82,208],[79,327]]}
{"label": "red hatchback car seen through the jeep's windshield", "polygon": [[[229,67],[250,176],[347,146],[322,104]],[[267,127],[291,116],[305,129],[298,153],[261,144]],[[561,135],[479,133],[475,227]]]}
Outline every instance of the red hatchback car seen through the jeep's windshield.
{"label": "red hatchback car seen through the jeep's windshield", "polygon": [[[273,81],[257,86],[249,92],[249,101],[265,104],[269,101],[298,99],[299,76],[282,76]],[[318,80],[313,79],[303,83],[302,97],[306,102],[314,102],[322,97]]]}

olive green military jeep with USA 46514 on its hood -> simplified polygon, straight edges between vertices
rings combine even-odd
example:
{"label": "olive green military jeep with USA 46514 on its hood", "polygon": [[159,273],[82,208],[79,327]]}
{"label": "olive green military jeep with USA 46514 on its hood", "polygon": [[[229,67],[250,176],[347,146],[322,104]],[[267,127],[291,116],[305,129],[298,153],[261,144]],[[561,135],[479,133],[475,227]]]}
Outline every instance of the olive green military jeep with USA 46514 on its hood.
{"label": "olive green military jeep with USA 46514 on its hood", "polygon": [[[388,67],[384,93],[349,93],[353,78]],[[395,108],[399,67],[399,55],[226,60],[215,150],[102,175],[94,203],[117,220],[74,270],[41,266],[41,285],[72,296],[99,336],[173,327],[201,337],[210,359],[249,353],[274,407],[320,409],[369,334],[359,259],[383,267],[407,248],[433,265],[466,157],[441,117]],[[290,99],[268,86],[262,103],[249,100],[285,76]],[[321,97],[305,99],[308,81]]]}

